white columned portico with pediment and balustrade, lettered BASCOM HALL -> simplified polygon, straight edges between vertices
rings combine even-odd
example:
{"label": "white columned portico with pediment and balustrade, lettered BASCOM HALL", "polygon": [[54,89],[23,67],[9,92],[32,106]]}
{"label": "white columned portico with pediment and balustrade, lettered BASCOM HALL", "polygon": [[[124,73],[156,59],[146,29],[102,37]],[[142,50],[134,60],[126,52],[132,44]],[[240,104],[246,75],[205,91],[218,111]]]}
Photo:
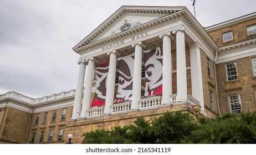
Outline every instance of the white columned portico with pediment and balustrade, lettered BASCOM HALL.
{"label": "white columned portico with pediment and balustrade, lettered BASCOM HALL", "polygon": [[[134,21],[131,18],[134,13],[136,16],[140,16],[140,13],[151,16],[147,17],[148,21]],[[122,19],[126,19],[125,22]],[[126,24],[131,24],[131,28],[121,32],[120,29]],[[158,47],[162,50],[162,68],[159,68],[162,70],[162,94],[144,97],[141,96],[141,87],[145,85],[141,75],[144,64],[142,53]],[[150,8],[134,8],[131,11],[121,7],[73,48],[80,54],[80,70],[71,120],[184,103],[201,106],[201,113],[205,115],[200,50],[213,58],[214,48],[216,46],[211,43],[211,38],[204,34],[186,9],[158,8],[152,16]],[[132,100],[114,103],[117,93],[116,70],[119,69],[117,58],[130,54],[134,54]],[[106,61],[109,61],[109,69],[105,105],[90,107],[91,92],[95,90],[94,68]],[[88,66],[84,85],[85,64]]]}

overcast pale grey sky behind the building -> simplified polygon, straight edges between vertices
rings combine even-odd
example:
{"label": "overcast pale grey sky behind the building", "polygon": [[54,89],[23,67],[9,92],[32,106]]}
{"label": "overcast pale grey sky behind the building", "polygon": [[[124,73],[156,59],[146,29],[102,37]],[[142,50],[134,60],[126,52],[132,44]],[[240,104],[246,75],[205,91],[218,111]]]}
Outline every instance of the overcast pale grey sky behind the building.
{"label": "overcast pale grey sky behind the building", "polygon": [[[185,6],[191,0],[0,0],[0,94],[43,97],[76,89],[72,48],[121,6]],[[203,27],[256,11],[255,0],[196,0]]]}

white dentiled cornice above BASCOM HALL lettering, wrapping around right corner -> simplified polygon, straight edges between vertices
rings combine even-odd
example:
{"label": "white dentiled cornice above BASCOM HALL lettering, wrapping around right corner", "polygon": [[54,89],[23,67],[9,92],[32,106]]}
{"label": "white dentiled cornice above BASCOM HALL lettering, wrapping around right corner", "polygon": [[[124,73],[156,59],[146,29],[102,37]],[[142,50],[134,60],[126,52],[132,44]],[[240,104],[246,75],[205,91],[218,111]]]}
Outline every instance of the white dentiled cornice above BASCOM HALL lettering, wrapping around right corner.
{"label": "white dentiled cornice above BASCOM HALL lettering, wrapping around right corner", "polygon": [[117,40],[126,39],[137,33],[142,33],[142,32],[149,31],[151,29],[156,29],[157,27],[161,27],[166,24],[177,22],[178,20],[185,20],[191,26],[191,28],[199,35],[199,37],[201,37],[204,40],[204,42],[208,44],[209,48],[211,48],[213,51],[216,51],[218,49],[217,44],[208,35],[206,30],[204,30],[204,28],[201,27],[201,25],[197,22],[197,20],[194,19],[191,13],[187,9],[182,9],[181,11],[178,11],[176,13],[168,14],[161,18],[138,25],[135,28],[131,28],[129,30],[126,30],[125,32],[117,33],[115,35],[111,35],[107,38],[98,40],[96,42],[90,43],[90,41],[88,41],[88,43],[81,44],[79,47],[76,47],[73,50],[78,54],[83,54],[84,51],[100,48],[105,44],[117,42]]}

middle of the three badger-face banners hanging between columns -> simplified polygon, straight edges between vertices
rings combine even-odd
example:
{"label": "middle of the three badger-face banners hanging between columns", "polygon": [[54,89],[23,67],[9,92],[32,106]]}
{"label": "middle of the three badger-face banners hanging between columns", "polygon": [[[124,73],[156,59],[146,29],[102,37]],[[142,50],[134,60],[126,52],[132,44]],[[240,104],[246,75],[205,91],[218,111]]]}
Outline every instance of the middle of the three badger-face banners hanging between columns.
{"label": "middle of the three badger-face banners hanging between columns", "polygon": [[134,73],[134,54],[118,58],[119,79],[115,103],[132,100],[132,74]]}

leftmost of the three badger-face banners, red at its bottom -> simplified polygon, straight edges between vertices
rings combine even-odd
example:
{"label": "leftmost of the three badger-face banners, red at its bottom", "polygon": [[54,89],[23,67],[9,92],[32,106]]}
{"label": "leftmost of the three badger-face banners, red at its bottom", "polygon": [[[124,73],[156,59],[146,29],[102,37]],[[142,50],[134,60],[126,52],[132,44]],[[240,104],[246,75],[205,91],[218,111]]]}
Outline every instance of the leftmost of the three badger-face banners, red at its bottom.
{"label": "leftmost of the three badger-face banners, red at its bottom", "polygon": [[107,73],[109,73],[109,61],[96,66],[96,90],[91,107],[105,105]]}

